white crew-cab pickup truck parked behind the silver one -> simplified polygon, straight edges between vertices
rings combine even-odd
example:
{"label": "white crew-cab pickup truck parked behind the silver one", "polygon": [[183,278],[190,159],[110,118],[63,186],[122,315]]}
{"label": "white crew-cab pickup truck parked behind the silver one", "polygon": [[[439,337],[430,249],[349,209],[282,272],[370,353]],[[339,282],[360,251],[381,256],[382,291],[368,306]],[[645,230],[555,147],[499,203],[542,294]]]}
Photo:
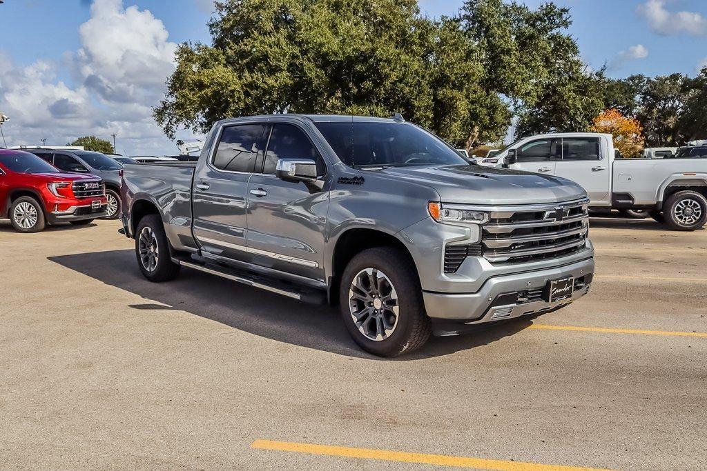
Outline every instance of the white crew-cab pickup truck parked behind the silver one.
{"label": "white crew-cab pickup truck parked behind the silver one", "polygon": [[595,211],[647,210],[682,231],[699,229],[707,220],[707,158],[615,158],[612,135],[600,133],[530,136],[496,157],[492,166],[576,181]]}

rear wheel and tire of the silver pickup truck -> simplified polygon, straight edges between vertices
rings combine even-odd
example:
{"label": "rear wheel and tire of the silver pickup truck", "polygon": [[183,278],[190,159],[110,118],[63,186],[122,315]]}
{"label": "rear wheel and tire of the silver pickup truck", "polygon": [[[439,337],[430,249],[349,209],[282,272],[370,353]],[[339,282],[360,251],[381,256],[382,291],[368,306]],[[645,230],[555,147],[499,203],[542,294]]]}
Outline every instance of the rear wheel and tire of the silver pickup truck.
{"label": "rear wheel and tire of the silver pickup truck", "polygon": [[[141,246],[141,243],[144,245]],[[143,252],[144,256],[141,256],[141,249],[146,249],[146,252]],[[150,281],[174,280],[179,275],[180,266],[170,258],[169,242],[158,215],[146,215],[137,225],[135,257],[140,271]]]}

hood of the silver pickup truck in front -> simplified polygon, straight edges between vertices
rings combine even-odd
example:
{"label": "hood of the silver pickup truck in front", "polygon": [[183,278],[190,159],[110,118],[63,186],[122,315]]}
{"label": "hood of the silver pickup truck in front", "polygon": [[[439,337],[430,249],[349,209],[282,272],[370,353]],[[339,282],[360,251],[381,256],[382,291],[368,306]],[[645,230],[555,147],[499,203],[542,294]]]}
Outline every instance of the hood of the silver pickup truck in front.
{"label": "hood of the silver pickup truck in front", "polygon": [[431,186],[443,203],[558,203],[587,196],[568,179],[480,165],[390,167],[380,173]]}

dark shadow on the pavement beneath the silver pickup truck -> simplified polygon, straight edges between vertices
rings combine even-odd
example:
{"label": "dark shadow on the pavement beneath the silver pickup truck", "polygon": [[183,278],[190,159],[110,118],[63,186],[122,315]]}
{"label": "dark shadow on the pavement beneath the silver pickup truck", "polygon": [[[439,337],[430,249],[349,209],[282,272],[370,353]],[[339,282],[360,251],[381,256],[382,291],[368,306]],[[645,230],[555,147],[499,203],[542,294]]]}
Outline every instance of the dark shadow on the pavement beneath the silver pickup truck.
{"label": "dark shadow on the pavement beneath the silver pickup truck", "polygon": [[[176,280],[148,282],[140,273],[132,250],[48,259],[145,299],[144,303],[127,304],[126,309],[177,309],[279,342],[349,357],[380,359],[358,348],[346,332],[338,309],[332,306],[305,304],[189,268],[182,268]],[[468,350],[513,335],[530,325],[530,320],[518,319],[457,337],[431,338],[417,352],[395,360],[438,357]]]}

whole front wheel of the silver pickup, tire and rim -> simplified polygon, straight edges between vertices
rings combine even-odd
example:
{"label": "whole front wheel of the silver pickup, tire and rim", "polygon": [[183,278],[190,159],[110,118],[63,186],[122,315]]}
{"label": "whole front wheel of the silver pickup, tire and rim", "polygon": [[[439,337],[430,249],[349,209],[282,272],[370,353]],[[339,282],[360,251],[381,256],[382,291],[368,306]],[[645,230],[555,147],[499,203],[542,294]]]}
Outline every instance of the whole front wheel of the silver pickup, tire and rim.
{"label": "whole front wheel of the silver pickup, tire and rim", "polygon": [[346,266],[341,317],[363,350],[395,357],[427,342],[432,327],[416,273],[409,256],[393,247],[364,250]]}

